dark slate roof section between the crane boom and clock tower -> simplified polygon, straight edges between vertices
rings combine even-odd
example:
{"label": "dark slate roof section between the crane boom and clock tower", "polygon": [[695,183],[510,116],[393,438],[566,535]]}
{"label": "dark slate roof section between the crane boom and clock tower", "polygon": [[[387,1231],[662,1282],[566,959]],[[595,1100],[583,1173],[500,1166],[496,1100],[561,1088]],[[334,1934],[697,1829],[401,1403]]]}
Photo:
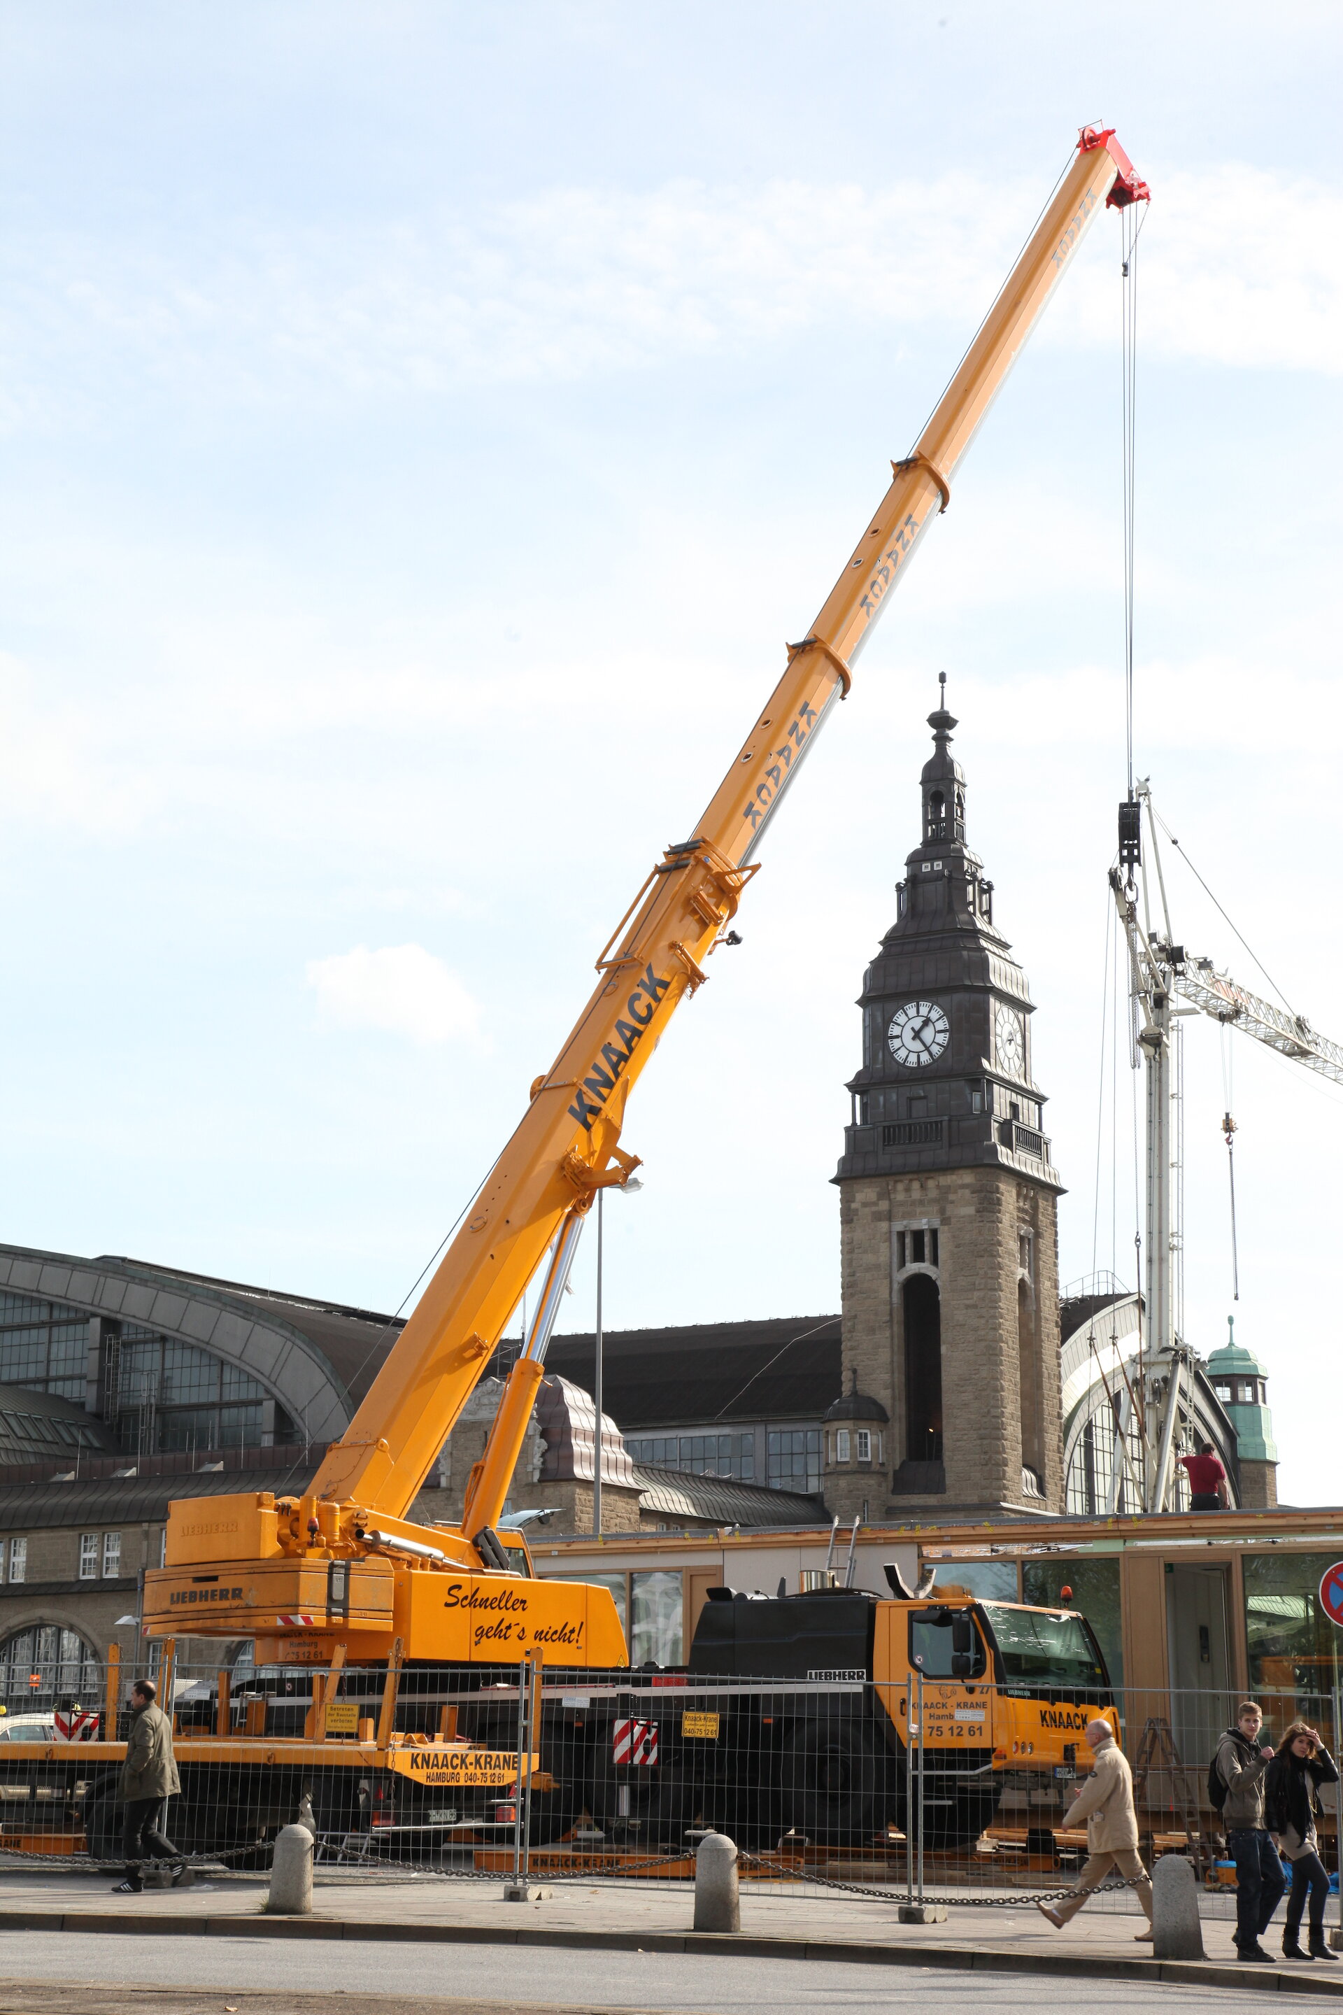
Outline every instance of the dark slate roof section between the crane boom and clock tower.
{"label": "dark slate roof section between the crane boom and clock tower", "polygon": [[[594,1352],[592,1334],[554,1336],[546,1370],[590,1392]],[[606,1330],[602,1340],[602,1410],[626,1435],[713,1421],[819,1421],[840,1382],[838,1316]]]}

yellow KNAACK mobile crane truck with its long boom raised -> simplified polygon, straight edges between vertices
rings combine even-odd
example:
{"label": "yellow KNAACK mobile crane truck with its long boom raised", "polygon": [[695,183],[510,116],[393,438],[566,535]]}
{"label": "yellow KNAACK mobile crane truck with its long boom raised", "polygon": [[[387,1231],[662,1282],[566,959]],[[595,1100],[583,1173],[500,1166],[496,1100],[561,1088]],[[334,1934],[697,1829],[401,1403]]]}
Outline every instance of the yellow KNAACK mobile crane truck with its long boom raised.
{"label": "yellow KNAACK mobile crane truck with its long boom raised", "polygon": [[[632,1721],[620,1707],[632,1678],[620,1683],[628,1654],[610,1592],[538,1580],[521,1533],[497,1525],[584,1217],[602,1187],[626,1183],[638,1167],[620,1147],[630,1086],[675,1010],[703,985],[709,955],[731,943],[769,820],[836,699],[850,691],[872,623],[946,510],[960,457],[1081,238],[1105,206],[1146,195],[1113,131],[1085,127],[932,419],[892,463],[890,488],[815,623],[787,647],[787,667],[723,784],[691,836],[650,868],[602,949],[574,1032],[532,1084],[513,1136],[310,1489],[298,1499],[262,1491],[171,1505],[167,1564],[145,1576],[147,1632],[252,1638],[258,1666],[312,1672],[310,1705],[230,1701],[221,1672],[203,1719],[189,1727],[183,1713],[183,1807],[197,1814],[187,1828],[197,1848],[242,1838],[244,1805],[246,1838],[264,1838],[292,1818],[300,1785],[320,1791],[326,1779],[344,1781],[344,1791],[326,1789],[346,1814],[352,1777],[364,1803],[383,1799],[383,1820],[375,1809],[370,1826],[387,1824],[407,1785],[447,1787],[455,1803],[425,1807],[425,1816],[429,1824],[449,1824],[449,1811],[457,1820],[461,1793],[475,1791],[479,1803],[515,1775],[515,1711],[505,1707],[499,1668],[511,1666],[515,1678],[524,1654],[580,1674],[586,1689],[576,1695],[572,1678],[570,1691],[554,1689],[550,1725],[570,1743],[572,1767],[566,1783],[548,1775],[544,1785],[552,1838],[582,1809],[612,1832],[644,1822],[677,1830],[715,1811],[743,1836],[775,1824],[805,1826],[817,1838],[884,1828],[904,1809],[916,1674],[930,1685],[924,1743],[940,1751],[934,1777],[944,1779],[934,1832],[975,1838],[997,1805],[1003,1773],[1071,1767],[1087,1713],[1107,1705],[1103,1660],[1081,1618],[975,1604],[952,1592],[928,1604],[926,1590],[904,1588],[888,1570],[890,1602],[836,1588],[747,1604],[717,1590],[689,1670],[644,1683],[650,1699],[652,1687],[664,1689],[658,1723],[646,1705],[644,1719]],[[417,1525],[407,1511],[542,1265],[536,1316],[471,1473],[461,1523]],[[381,1668],[377,1681],[368,1668]],[[429,1668],[439,1668],[437,1678]],[[761,1695],[749,1674],[777,1685]],[[401,1681],[419,1705],[407,1717],[403,1691],[399,1725]],[[695,1709],[705,1685],[723,1695],[729,1683],[733,1705]],[[775,1713],[771,1697],[781,1687],[813,1695],[815,1711]],[[326,1709],[338,1689],[344,1697],[332,1717]],[[93,1852],[105,1852],[115,1830],[111,1777],[99,1775],[121,1753],[107,1739],[115,1711],[109,1676],[105,1739],[64,1751],[12,1745],[12,1763],[32,1785],[46,1785],[52,1809],[66,1809],[70,1824],[83,1814]],[[616,1757],[620,1741],[626,1751],[634,1743],[630,1729],[654,1729],[656,1739],[640,1737],[636,1749],[642,1807],[612,1765],[614,1713],[626,1715],[614,1723],[626,1731]],[[705,1733],[709,1725],[719,1733]],[[729,1727],[739,1733],[731,1757],[721,1747]],[[666,1765],[656,1777],[648,1743]],[[187,1779],[197,1777],[189,1799]]]}

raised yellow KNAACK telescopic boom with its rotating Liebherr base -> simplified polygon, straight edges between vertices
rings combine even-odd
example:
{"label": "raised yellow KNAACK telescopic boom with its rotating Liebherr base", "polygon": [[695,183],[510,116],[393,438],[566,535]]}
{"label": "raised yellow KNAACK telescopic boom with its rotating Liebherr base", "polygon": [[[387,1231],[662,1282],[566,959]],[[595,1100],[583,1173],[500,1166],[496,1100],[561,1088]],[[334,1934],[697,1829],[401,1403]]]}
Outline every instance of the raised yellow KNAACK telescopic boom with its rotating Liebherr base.
{"label": "raised yellow KNAACK telescopic boom with its rotating Liebherr base", "polygon": [[[787,647],[783,675],[719,790],[687,828],[687,838],[668,846],[648,870],[602,949],[592,997],[550,1070],[536,1078],[526,1114],[350,1427],[326,1451],[298,1505],[266,1503],[262,1495],[256,1509],[244,1497],[171,1507],[167,1568],[147,1578],[151,1632],[181,1626],[183,1610],[191,1608],[193,1632],[256,1636],[258,1660],[264,1648],[280,1644],[284,1658],[316,1658],[316,1650],[296,1648],[316,1646],[316,1632],[346,1642],[350,1656],[385,1656],[393,1636],[409,1656],[483,1658],[491,1646],[495,1656],[515,1654],[515,1634],[505,1640],[507,1652],[499,1638],[461,1634],[453,1618],[465,1596],[449,1610],[451,1628],[445,1626],[441,1576],[455,1574],[461,1584],[463,1570],[485,1576],[509,1570],[493,1527],[544,1376],[574,1241],[596,1191],[626,1183],[638,1167],[620,1147],[630,1088],[670,1016],[703,985],[705,961],[723,941],[755,875],[769,820],[836,699],[848,693],[858,653],[918,540],[946,510],[960,457],[1081,238],[1105,206],[1122,208],[1146,195],[1113,131],[1085,127],[932,419],[914,449],[892,463],[890,488],[864,522],[815,623]],[[548,1253],[538,1314],[471,1475],[461,1527],[427,1531],[405,1523]],[[203,1582],[191,1570],[203,1564],[219,1564],[226,1586],[197,1614],[187,1598],[193,1584]],[[340,1602],[326,1594],[328,1568],[344,1590]],[[437,1586],[437,1596],[429,1584]],[[250,1590],[250,1598],[234,1604],[234,1586],[240,1594]],[[538,1590],[542,1584],[528,1586]],[[544,1588],[562,1592],[554,1582]],[[600,1592],[586,1594],[592,1616]],[[570,1598],[576,1596],[578,1590],[570,1590]],[[475,1598],[477,1606],[495,1600],[479,1590]],[[614,1608],[606,1606],[610,1618],[600,1636],[610,1640]],[[550,1626],[562,1628],[564,1614],[560,1602]],[[618,1662],[610,1642],[598,1660],[592,1630],[582,1642],[572,1634],[556,1642],[566,1646],[570,1662]]]}

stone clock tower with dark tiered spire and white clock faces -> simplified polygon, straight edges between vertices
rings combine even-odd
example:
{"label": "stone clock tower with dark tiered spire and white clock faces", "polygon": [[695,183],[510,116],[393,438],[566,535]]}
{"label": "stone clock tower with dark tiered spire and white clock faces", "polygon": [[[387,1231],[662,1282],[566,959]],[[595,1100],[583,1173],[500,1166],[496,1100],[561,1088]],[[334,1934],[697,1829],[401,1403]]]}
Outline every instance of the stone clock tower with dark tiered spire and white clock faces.
{"label": "stone clock tower with dark tiered spire and white clock faces", "polygon": [[826,1501],[846,1519],[1063,1509],[1061,1185],[1035,1010],[966,844],[944,693],[928,725],[920,844],[864,979],[862,1068],[834,1177],[844,1402],[886,1421],[864,1435],[828,1427]]}

